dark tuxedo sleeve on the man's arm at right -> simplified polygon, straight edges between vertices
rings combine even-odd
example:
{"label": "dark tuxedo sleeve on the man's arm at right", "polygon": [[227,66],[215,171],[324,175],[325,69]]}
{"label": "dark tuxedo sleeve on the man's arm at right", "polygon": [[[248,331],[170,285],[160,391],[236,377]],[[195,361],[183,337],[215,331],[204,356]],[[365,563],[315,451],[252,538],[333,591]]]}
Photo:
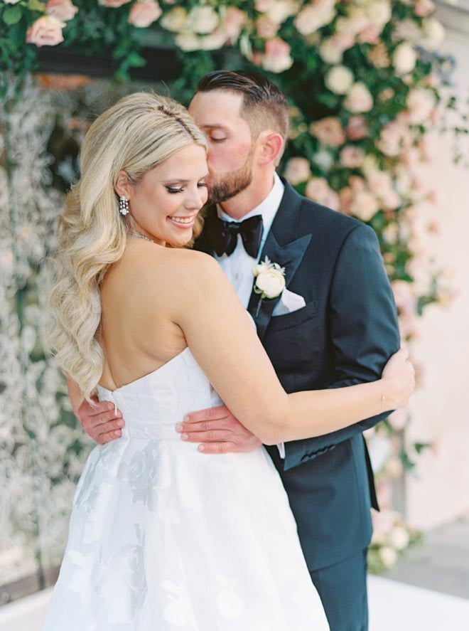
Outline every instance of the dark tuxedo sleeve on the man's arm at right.
{"label": "dark tuxedo sleeve on the man's arm at right", "polygon": [[[378,379],[384,364],[399,349],[399,327],[377,236],[364,223],[347,235],[335,262],[328,320],[335,368],[335,380],[328,387]],[[284,469],[318,457],[387,415],[315,438],[286,442]]]}

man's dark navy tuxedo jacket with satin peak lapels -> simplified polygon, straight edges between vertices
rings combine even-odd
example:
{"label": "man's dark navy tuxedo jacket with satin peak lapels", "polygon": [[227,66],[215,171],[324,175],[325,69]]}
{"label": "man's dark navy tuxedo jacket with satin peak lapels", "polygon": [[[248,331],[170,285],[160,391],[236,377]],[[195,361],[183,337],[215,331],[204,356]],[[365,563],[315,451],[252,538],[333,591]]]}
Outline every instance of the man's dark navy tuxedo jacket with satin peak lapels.
{"label": "man's dark navy tuxedo jacket with satin peak lapels", "polygon": [[[306,307],[272,317],[279,299],[252,293],[248,310],[287,392],[338,388],[379,378],[399,349],[392,290],[370,226],[319,206],[284,182],[261,253],[286,268],[286,287]],[[208,212],[215,212],[215,208]],[[212,253],[202,233],[195,248]],[[254,278],[253,278],[254,284]],[[318,438],[268,447],[289,496],[310,571],[366,548],[377,508],[362,431],[386,414]]]}

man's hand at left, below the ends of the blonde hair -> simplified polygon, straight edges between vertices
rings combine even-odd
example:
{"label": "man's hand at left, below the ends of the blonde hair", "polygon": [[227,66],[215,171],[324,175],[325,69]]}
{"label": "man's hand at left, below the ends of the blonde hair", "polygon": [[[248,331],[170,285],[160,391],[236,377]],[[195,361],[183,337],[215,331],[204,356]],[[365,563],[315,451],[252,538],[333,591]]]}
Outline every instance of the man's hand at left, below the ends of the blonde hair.
{"label": "man's hand at left, below the ends of the blonde hair", "polygon": [[98,401],[97,398],[93,398],[93,401],[96,403],[95,408],[83,401],[75,415],[87,435],[99,442],[99,445],[105,445],[122,435],[124,420],[120,410],[116,413],[113,403]]}

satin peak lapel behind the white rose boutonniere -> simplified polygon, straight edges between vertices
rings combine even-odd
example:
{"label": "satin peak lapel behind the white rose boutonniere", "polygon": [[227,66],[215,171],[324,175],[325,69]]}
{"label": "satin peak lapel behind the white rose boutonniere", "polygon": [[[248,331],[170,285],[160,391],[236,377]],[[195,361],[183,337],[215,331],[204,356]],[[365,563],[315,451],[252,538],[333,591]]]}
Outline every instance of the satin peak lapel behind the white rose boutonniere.
{"label": "satin peak lapel behind the white rose boutonniere", "polygon": [[[285,281],[288,287],[306,253],[311,241],[311,235],[297,236],[297,226],[301,212],[301,196],[286,181],[284,181],[284,185],[284,196],[276,213],[274,223],[272,223],[271,230],[267,235],[264,248],[262,248],[259,262],[262,262],[267,257],[272,263],[279,263],[281,267],[285,267]],[[252,284],[254,288],[254,276]],[[260,295],[254,292],[254,289],[251,293],[247,310],[256,322],[257,333],[260,339],[264,338],[267,325],[279,299],[280,296],[261,299]]]}

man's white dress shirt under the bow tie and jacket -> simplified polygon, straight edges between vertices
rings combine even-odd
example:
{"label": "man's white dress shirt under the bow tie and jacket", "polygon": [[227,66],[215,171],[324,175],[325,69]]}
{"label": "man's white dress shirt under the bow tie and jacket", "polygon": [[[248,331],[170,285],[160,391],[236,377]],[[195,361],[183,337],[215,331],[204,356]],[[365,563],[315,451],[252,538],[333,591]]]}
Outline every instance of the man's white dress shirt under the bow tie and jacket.
{"label": "man's white dress shirt under the bow tie and jacket", "polygon": [[[244,217],[239,220],[244,221],[244,219],[249,219],[250,217],[254,217],[256,215],[262,215],[262,238],[257,258],[253,258],[246,252],[246,250],[244,250],[241,235],[239,234],[237,235],[237,244],[232,255],[215,255],[215,259],[222,266],[222,270],[227,275],[228,280],[231,282],[234,290],[236,290],[237,295],[239,296],[239,299],[246,308],[249,304],[249,298],[251,297],[252,287],[254,285],[252,267],[259,263],[262,248],[264,248],[267,235],[269,234],[269,230],[272,226],[276,213],[279,210],[281,198],[284,195],[284,189],[285,187],[281,179],[276,173],[274,173],[274,185],[272,186],[269,195],[267,195],[266,198],[259,203],[258,206],[256,206],[256,208],[253,208],[252,211],[249,211],[247,215],[244,215]],[[235,221],[232,217],[224,213],[220,206],[217,210],[220,219],[223,219],[224,221]],[[284,458],[284,443],[280,443],[277,447],[279,449],[280,456]]]}

